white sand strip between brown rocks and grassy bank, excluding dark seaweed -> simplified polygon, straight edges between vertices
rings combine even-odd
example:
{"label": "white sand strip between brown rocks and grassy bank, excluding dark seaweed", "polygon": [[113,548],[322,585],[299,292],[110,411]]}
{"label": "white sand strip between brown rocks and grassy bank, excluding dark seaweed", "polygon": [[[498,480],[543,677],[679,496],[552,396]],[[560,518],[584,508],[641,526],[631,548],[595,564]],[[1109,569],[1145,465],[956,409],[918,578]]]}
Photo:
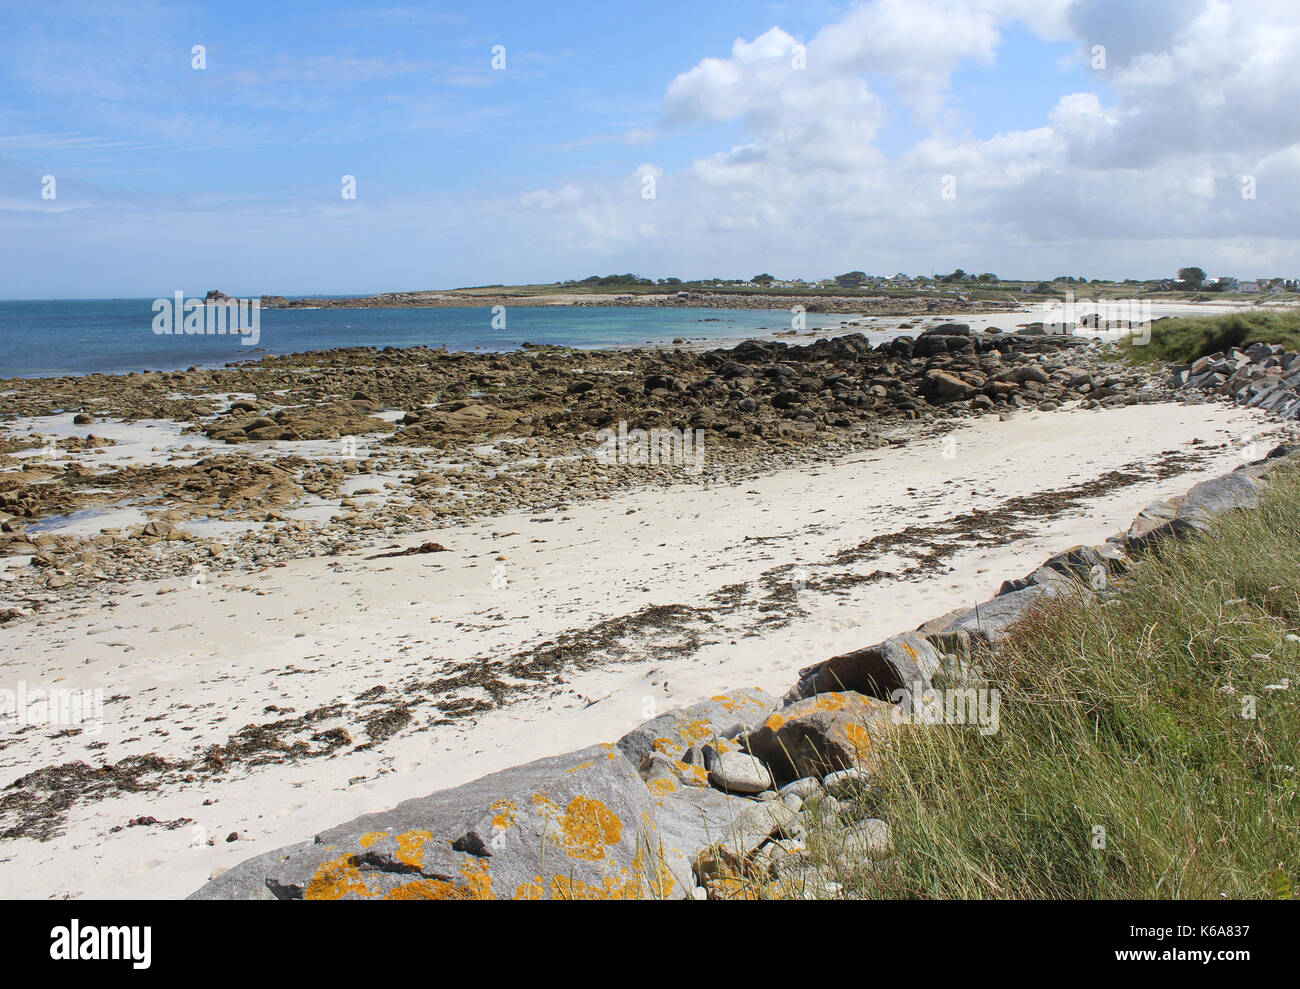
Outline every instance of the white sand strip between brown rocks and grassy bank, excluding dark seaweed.
{"label": "white sand strip between brown rocks and grassy bank, excluding dark seaweed", "polygon": [[[1243,463],[1251,438],[1262,456],[1280,435],[1262,415],[1223,404],[991,416],[946,444],[932,437],[732,486],[640,490],[378,547],[437,541],[450,552],[365,559],[376,548],[198,584],[139,582],[91,606],[43,611],[0,628],[0,681],[103,689],[104,724],[61,738],[53,726],[5,734],[0,786],[73,760],[192,758],[286,708],[356,704],[376,686],[391,691],[459,661],[498,663],[649,606],[698,610],[676,654],[564,669],[542,693],[473,720],[429,726],[432,712],[415,707],[412,728],[369,747],[77,802],[53,840],[4,843],[0,890],[182,897],[254,854],[407,797],[612,741],[668,707],[750,685],[784,693],[800,667],[987,599],[1052,552],[1100,542],[1152,500]],[[1182,455],[1191,457],[1184,473],[1130,480],[1060,517],[1026,519],[1017,538],[957,547],[928,571],[918,571],[906,539],[846,552],[910,525],[924,543],[926,526],[956,516]],[[836,580],[878,571],[871,581]],[[797,607],[774,612],[764,603],[772,587],[793,580],[805,582]],[[664,638],[658,633],[660,646]],[[146,816],[192,823],[125,827]],[[230,833],[238,840],[228,842]]]}

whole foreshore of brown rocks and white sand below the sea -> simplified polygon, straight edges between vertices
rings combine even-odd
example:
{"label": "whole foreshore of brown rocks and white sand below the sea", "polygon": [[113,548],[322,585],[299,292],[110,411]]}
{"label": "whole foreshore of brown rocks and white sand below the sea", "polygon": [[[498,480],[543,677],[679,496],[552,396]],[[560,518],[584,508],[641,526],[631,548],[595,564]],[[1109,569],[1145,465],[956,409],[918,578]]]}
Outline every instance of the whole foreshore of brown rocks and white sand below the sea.
{"label": "whole foreshore of brown rocks and white sand below the sea", "polygon": [[[0,876],[185,895],[647,704],[779,689],[1290,434],[1113,356],[931,325],[6,391],[0,674],[104,721],[0,736]],[[599,464],[611,420],[702,430],[708,469]]]}

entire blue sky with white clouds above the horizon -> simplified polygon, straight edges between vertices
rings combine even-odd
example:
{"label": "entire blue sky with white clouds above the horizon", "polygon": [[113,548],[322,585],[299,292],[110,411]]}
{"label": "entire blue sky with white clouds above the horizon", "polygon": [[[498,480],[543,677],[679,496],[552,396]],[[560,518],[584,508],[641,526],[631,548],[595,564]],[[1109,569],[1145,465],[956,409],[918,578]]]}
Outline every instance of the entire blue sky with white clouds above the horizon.
{"label": "entire blue sky with white clouds above the horizon", "polygon": [[0,0],[0,298],[1296,277],[1292,4]]}

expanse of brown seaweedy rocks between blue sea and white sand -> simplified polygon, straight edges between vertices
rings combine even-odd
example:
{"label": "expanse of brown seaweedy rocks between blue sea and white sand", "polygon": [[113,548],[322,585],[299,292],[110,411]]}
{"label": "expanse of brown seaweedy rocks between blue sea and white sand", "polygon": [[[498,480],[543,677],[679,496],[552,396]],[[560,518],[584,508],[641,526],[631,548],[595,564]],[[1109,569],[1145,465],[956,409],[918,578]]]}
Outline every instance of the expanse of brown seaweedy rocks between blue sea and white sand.
{"label": "expanse of brown seaweedy rocks between blue sea and white sand", "polygon": [[[554,511],[645,483],[734,482],[963,417],[1158,402],[1173,387],[1097,342],[942,322],[878,347],[854,333],[711,351],[346,348],[211,370],[12,379],[0,394],[0,558],[29,565],[8,571],[0,620],[53,593],[256,571],[430,524]],[[178,434],[122,460],[101,435],[118,420]],[[14,429],[32,421],[58,431]],[[68,435],[73,428],[82,435]],[[690,438],[702,460],[598,456],[602,430],[608,442],[638,429]],[[117,506],[138,521],[44,532]],[[212,521],[243,530],[191,528]]]}

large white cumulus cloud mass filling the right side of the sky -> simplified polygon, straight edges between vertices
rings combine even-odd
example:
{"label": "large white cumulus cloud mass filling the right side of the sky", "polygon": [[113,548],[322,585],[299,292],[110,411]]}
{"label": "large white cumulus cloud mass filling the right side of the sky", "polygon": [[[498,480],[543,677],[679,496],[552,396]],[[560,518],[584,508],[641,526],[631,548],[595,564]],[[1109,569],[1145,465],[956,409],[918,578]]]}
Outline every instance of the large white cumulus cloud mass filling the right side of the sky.
{"label": "large white cumulus cloud mass filling the right side of the sky", "polygon": [[[779,26],[737,39],[671,81],[663,116],[666,129],[738,127],[744,143],[663,175],[653,221],[632,195],[634,177],[584,185],[580,216],[615,250],[671,231],[679,253],[644,242],[642,256],[679,257],[689,242],[737,252],[738,268],[798,265],[803,251],[805,270],[809,256],[827,268],[863,257],[881,270],[904,259],[942,268],[958,251],[971,252],[966,266],[1004,259],[1019,273],[1062,261],[1062,270],[1153,273],[1166,253],[1300,268],[1300,23],[1290,3],[1138,6],[874,0],[806,42]],[[1071,43],[1080,60],[1105,45],[1105,69],[1037,126],[954,131],[954,75],[996,66],[1015,23]],[[924,133],[887,152],[883,131],[900,114]],[[1260,200],[1242,198],[1247,174]],[[942,194],[945,182],[956,196]]]}

